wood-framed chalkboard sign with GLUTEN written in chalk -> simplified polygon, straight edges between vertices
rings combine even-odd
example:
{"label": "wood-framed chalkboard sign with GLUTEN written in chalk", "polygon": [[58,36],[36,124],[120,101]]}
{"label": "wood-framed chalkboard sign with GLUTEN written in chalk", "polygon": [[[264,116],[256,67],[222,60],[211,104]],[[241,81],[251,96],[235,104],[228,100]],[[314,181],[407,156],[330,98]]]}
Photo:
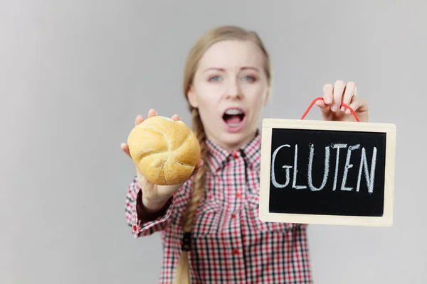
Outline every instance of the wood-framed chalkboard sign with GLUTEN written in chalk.
{"label": "wood-framed chalkboard sign with GLUTEN written in chalk", "polygon": [[264,222],[391,226],[396,126],[264,119]]}

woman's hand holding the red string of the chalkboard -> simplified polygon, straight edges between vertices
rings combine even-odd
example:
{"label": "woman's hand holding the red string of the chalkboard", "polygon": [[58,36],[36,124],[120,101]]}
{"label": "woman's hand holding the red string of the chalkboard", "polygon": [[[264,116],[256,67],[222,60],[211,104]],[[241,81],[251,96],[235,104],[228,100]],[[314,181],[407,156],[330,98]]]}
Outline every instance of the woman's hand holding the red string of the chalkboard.
{"label": "woman's hand holding the red string of the chalkboard", "polygon": [[342,103],[351,107],[359,117],[359,121],[368,122],[368,104],[365,99],[357,96],[356,84],[337,81],[334,85],[325,84],[323,87],[323,100],[315,103],[322,111],[323,120],[356,121],[352,112],[341,106]]}

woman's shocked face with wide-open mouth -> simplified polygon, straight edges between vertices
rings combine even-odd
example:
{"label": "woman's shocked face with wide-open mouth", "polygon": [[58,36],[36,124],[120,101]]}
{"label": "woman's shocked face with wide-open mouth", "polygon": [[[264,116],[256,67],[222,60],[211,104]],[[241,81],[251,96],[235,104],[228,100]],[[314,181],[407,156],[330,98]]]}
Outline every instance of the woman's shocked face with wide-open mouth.
{"label": "woman's shocked face with wide-open mouth", "polygon": [[255,136],[268,89],[258,45],[225,40],[206,50],[188,95],[191,106],[199,109],[206,136],[234,149]]}

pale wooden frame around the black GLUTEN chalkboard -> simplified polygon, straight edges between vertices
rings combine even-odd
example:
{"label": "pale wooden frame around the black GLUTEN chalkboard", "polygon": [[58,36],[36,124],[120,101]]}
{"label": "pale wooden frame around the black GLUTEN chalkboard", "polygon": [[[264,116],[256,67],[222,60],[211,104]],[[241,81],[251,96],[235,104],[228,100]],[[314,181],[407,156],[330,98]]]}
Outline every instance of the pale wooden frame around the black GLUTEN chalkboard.
{"label": "pale wooden frame around the black GLUTEN chalkboard", "polygon": [[[386,166],[384,176],[384,215],[382,217],[354,217],[315,214],[270,213],[270,173],[272,129],[317,129],[337,131],[370,131],[386,133]],[[336,224],[357,226],[392,226],[394,205],[394,170],[396,156],[396,125],[347,121],[312,121],[301,119],[263,119],[259,219],[263,222],[297,224]]]}

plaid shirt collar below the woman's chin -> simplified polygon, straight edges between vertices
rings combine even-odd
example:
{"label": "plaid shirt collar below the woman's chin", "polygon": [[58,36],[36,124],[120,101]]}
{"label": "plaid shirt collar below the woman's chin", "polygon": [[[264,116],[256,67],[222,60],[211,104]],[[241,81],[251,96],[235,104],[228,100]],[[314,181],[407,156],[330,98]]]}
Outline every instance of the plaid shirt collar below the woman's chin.
{"label": "plaid shirt collar below the woman's chin", "polygon": [[216,173],[223,168],[229,158],[243,157],[246,165],[253,170],[260,168],[260,155],[261,155],[261,133],[257,130],[255,138],[252,141],[243,145],[236,151],[229,151],[218,143],[210,139],[206,139],[206,147],[208,149],[206,162],[209,165],[212,173]]}

